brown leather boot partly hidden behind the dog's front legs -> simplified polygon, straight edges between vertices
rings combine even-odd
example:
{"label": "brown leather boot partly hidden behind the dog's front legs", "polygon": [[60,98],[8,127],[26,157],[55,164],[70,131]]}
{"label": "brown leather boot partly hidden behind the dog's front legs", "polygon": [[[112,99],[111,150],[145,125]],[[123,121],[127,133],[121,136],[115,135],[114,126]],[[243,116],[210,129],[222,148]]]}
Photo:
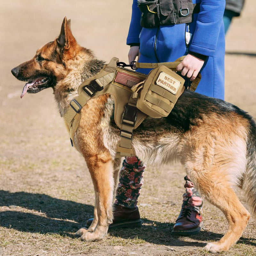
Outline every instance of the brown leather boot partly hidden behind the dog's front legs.
{"label": "brown leather boot partly hidden behind the dog's front legs", "polygon": [[[85,228],[89,228],[93,219],[86,221]],[[141,226],[140,212],[138,207],[127,208],[114,204],[114,220],[108,228],[137,228]]]}

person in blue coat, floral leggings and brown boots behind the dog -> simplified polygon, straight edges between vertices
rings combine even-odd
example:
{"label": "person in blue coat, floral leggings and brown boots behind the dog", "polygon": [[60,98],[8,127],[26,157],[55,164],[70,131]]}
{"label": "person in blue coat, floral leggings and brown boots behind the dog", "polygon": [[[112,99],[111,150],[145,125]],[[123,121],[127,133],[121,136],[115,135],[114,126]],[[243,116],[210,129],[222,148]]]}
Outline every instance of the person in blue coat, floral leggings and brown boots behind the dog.
{"label": "person in blue coat, floral leggings and brown boots behind the dog", "polygon": [[[161,1],[167,3],[166,0],[159,1],[160,4]],[[193,0],[192,2],[200,4],[200,10],[193,13],[192,22],[189,24],[145,28],[140,25],[141,11],[137,0],[133,0],[132,19],[127,37],[127,44],[131,46],[128,59],[131,62],[139,56],[140,62],[171,62],[186,55],[177,67],[181,75],[193,81],[200,72],[202,79],[196,92],[223,100],[225,33],[222,17],[225,0]],[[147,7],[149,12],[156,13],[150,10],[152,7],[150,2]],[[137,71],[148,74],[150,69],[140,68]],[[136,205],[143,184],[145,167],[136,156],[124,159],[116,191],[114,220],[109,228],[141,225]],[[181,212],[173,228],[173,232],[179,235],[198,233],[202,222],[202,199],[188,176],[185,180],[186,193],[183,195]],[[87,221],[88,226],[91,221]]]}

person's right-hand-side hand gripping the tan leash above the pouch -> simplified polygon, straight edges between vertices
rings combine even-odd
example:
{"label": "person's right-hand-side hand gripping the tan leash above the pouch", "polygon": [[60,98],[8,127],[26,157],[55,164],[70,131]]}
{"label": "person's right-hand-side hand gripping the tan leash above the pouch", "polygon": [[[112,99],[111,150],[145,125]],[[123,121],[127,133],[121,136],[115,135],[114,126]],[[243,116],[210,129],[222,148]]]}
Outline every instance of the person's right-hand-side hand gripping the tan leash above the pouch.
{"label": "person's right-hand-side hand gripping the tan leash above the pouch", "polygon": [[204,60],[188,54],[184,60],[177,66],[177,70],[181,71],[181,76],[187,76],[190,81],[195,80],[200,69],[204,65]]}

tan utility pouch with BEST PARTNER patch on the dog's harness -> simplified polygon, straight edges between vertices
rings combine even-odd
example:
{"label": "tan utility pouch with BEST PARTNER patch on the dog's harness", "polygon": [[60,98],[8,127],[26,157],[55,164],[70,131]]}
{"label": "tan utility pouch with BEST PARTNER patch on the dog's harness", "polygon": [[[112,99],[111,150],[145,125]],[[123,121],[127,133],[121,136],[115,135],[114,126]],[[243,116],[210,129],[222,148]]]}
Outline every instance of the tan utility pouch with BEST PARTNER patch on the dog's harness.
{"label": "tan utility pouch with BEST PARTNER patch on the dog's harness", "polygon": [[170,68],[160,66],[152,69],[144,84],[139,83],[131,88],[133,97],[138,97],[136,107],[153,118],[168,116],[185,90],[184,82]]}

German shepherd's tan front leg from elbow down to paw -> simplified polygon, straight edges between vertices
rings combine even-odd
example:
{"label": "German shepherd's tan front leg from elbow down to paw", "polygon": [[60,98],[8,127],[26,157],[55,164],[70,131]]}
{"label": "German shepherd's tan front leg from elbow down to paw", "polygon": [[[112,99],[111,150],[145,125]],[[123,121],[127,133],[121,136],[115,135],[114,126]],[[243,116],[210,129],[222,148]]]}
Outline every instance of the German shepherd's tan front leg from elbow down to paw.
{"label": "German shepherd's tan front leg from elbow down to paw", "polygon": [[[94,190],[95,190],[95,207],[93,226],[90,226],[91,232],[78,230],[77,235],[84,241],[98,241],[104,238],[108,232],[108,226],[113,219],[113,161],[110,157],[94,156],[86,159],[89,168]],[[98,217],[98,218],[97,218]],[[96,223],[96,220],[98,222]],[[96,227],[94,228],[94,225]]]}

